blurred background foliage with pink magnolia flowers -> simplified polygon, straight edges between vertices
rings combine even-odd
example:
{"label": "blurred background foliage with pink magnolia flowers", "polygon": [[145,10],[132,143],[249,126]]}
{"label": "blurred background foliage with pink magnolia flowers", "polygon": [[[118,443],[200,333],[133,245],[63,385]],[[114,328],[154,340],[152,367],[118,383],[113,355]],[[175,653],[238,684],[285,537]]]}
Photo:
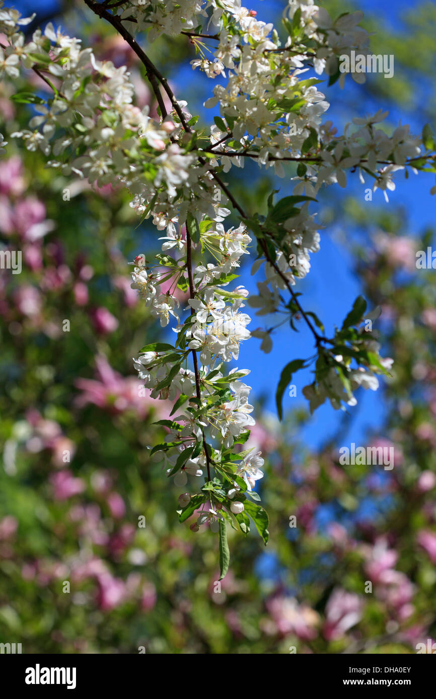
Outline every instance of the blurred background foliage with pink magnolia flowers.
{"label": "blurred background foliage with pink magnolia flowers", "polygon": [[[137,103],[155,110],[132,52],[80,0],[31,4],[38,16],[30,31],[60,22],[97,57],[127,63]],[[362,7],[323,4],[333,16]],[[388,105],[407,121],[419,109],[422,123],[434,124],[436,6],[407,3],[389,24],[367,4],[363,24],[377,32],[374,52],[395,55],[395,79],[374,76],[358,93],[335,85],[328,99],[343,115],[356,115],[359,94],[359,113]],[[15,6],[25,14],[29,3]],[[281,3],[271,6],[279,17]],[[149,52],[180,99],[204,85],[197,73],[174,71],[193,57],[188,41],[162,38]],[[254,534],[231,530],[231,568],[218,591],[216,536],[178,524],[178,489],[148,457],[164,437],[152,423],[169,408],[148,397],[132,370],[132,356],[160,329],[129,289],[126,263],[157,252],[157,236],[138,226],[127,193],[54,176],[40,153],[13,142],[29,113],[8,98],[29,82],[42,92],[36,80],[0,85],[9,141],[0,161],[1,249],[23,257],[20,275],[0,273],[0,642],[21,642],[29,654],[407,654],[433,641],[436,282],[433,270],[415,266],[433,230],[416,233],[407,209],[393,203],[328,202],[324,220],[335,225],[335,245],[349,255],[370,308],[381,307],[374,334],[395,359],[393,379],[377,394],[383,417],[360,439],[359,408],[335,414],[320,441],[304,408],[279,424],[258,391],[248,446],[266,460],[260,495],[270,540],[265,549]],[[252,181],[253,172],[229,181],[258,210],[274,183]],[[313,439],[302,438],[311,431]],[[350,441],[393,446],[393,470],[340,466],[337,444]]]}

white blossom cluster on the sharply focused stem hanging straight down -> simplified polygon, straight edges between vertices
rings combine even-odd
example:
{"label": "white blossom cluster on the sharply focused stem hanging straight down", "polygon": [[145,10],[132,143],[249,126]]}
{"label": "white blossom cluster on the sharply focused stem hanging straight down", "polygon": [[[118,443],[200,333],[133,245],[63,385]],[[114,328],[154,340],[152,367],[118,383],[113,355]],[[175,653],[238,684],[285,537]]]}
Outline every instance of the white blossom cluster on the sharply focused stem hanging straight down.
{"label": "white blossom cluster on the sharply focused stem hanging straight down", "polygon": [[[251,238],[244,224],[226,230],[220,222],[202,219],[196,247],[209,251],[216,262],[198,264],[190,269],[190,243],[185,226],[178,224],[176,218],[169,220],[163,214],[155,215],[155,223],[160,229],[167,228],[167,236],[161,238],[165,241],[162,252],[172,249],[178,258],[158,255],[160,266],[153,268],[144,255],[137,256],[132,287],[139,291],[152,312],[160,316],[162,325],[169,322],[170,314],[178,322],[174,327],[176,347],[161,348],[159,344],[155,349],[145,347],[138,359],[134,359],[139,378],[151,390],[151,396],[176,401],[180,411],[172,423],[165,422],[169,433],[158,453],[160,458],[163,454],[167,473],[174,475],[174,483],[180,487],[188,482],[188,476],[204,475],[208,460],[220,463],[223,469],[227,469],[227,487],[223,491],[220,489],[229,501],[227,515],[242,515],[244,503],[241,498],[246,497],[244,491],[251,493],[255,481],[262,477],[260,466],[263,459],[260,454],[252,454],[249,450],[241,463],[230,464],[228,461],[234,442],[245,440],[255,421],[251,416],[253,405],[248,403],[251,388],[241,381],[248,370],[232,369],[225,376],[222,366],[223,362],[238,359],[241,342],[250,337],[247,329],[250,317],[242,311],[248,292],[241,286],[233,291],[228,291],[227,287],[236,276],[233,272],[238,268],[241,256],[247,253]],[[190,274],[192,287],[185,309],[189,315],[182,323],[174,311],[178,306],[174,290],[188,287]],[[172,294],[159,291],[163,282],[172,288]],[[199,359],[194,371],[185,366],[191,353],[195,353],[196,363],[197,355]],[[206,435],[209,442],[217,445],[210,454],[206,451],[209,448]],[[172,446],[171,450],[167,445]],[[239,499],[234,500],[237,493]],[[189,494],[183,493],[179,503],[188,507]],[[218,519],[223,519],[226,509],[220,500],[220,512],[217,512],[216,505],[211,501],[209,509],[199,515],[192,525],[194,531],[206,522],[212,531],[218,531]]]}

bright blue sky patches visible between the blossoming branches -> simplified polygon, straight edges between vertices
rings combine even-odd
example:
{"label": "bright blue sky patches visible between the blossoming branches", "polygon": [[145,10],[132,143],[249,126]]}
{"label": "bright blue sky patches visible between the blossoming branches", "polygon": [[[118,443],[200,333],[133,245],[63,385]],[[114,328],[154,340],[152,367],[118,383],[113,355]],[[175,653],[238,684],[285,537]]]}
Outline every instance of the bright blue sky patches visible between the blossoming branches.
{"label": "bright blue sky patches visible between the blossoming branches", "polygon": [[[6,1],[6,4],[9,4]],[[51,8],[57,6],[55,0],[15,0],[11,5],[20,9],[23,14],[37,12],[45,15]],[[249,8],[258,11],[258,17],[271,18],[279,15],[283,2],[276,0],[252,0],[246,3]],[[388,21],[391,26],[397,28],[400,26],[398,14],[407,8],[411,8],[416,4],[415,1],[396,0],[360,0],[356,3],[364,11],[377,10],[381,20]],[[192,72],[189,65],[181,66],[180,69],[174,71],[170,76],[176,85],[176,94],[179,99],[188,99],[190,110],[192,113],[199,113],[204,120],[211,122],[213,110],[204,110],[202,102],[209,96],[211,90],[211,81],[205,78],[199,71]],[[367,76],[368,80],[372,79],[371,75]],[[392,78],[395,80],[395,75]],[[183,91],[177,85],[183,85]],[[325,92],[330,103],[335,103],[328,111],[326,118],[332,119],[335,124],[342,127],[344,121],[351,120],[354,116],[365,115],[366,113],[374,113],[379,108],[386,108],[386,104],[370,101],[363,91],[356,85],[346,87],[348,96],[353,96],[353,103],[356,104],[356,110],[353,113],[347,111],[344,101],[342,100],[343,93],[338,85],[330,88],[325,88],[320,85],[319,89]],[[350,90],[352,92],[350,92]],[[402,122],[411,124],[412,131],[421,133],[423,123],[420,121],[420,115],[405,115],[391,110],[390,120],[393,124],[398,123],[402,118]],[[244,171],[242,171],[244,172]],[[420,173],[419,177],[411,178],[406,182],[403,175],[400,174],[396,180],[397,187],[395,192],[390,194],[390,203],[384,203],[384,197],[381,192],[374,194],[372,202],[367,202],[366,206],[377,206],[382,204],[386,207],[395,207],[401,205],[407,210],[409,221],[412,222],[413,228],[407,231],[414,235],[418,233],[423,226],[433,224],[434,199],[430,197],[429,190],[434,182],[433,175]],[[358,182],[357,176],[354,179],[349,179],[350,188],[347,190],[347,195],[356,196],[358,201],[364,203],[363,185]],[[289,194],[292,189],[292,183],[288,180],[278,180],[278,187],[281,188],[279,196]],[[320,210],[318,219],[322,215],[322,208],[328,203],[328,198],[325,194],[320,196],[320,203],[314,205]],[[311,209],[312,211],[315,208]],[[356,278],[352,273],[352,264],[349,254],[344,250],[342,245],[335,242],[339,219],[334,220],[329,224],[328,228],[321,231],[321,250],[311,257],[311,271],[303,282],[299,282],[296,290],[303,291],[302,303],[306,310],[313,310],[323,319],[326,326],[326,333],[333,332],[333,326],[342,323],[342,319],[350,310],[354,298],[360,293],[360,288]],[[347,236],[353,236],[354,231],[346,231]],[[142,252],[139,250],[138,252]],[[249,291],[256,291],[255,278],[251,278],[248,274],[245,275],[244,282]],[[259,319],[251,314],[253,321],[251,328],[262,325]],[[249,384],[253,387],[255,396],[263,394],[266,396],[267,408],[275,414],[275,389],[279,381],[281,368],[290,361],[290,359],[305,358],[314,354],[314,345],[311,334],[304,326],[304,322],[300,322],[300,333],[295,333],[283,326],[283,329],[274,334],[274,348],[272,353],[265,355],[259,349],[259,341],[252,339],[241,348],[239,356],[239,367],[249,368],[251,375],[248,377]],[[290,410],[297,406],[305,405],[306,402],[302,398],[302,387],[311,382],[311,373],[305,370],[297,373],[293,382],[297,386],[297,397],[289,398],[287,392],[283,399],[285,410]],[[351,427],[348,432],[344,431],[341,435],[342,444],[354,441],[361,442],[365,438],[365,433],[372,429],[377,429],[384,416],[384,403],[379,392],[363,391],[360,389],[357,394],[359,408],[351,408],[356,411]],[[336,412],[330,408],[330,405],[325,405],[318,408],[314,417],[311,419],[309,426],[304,430],[302,438],[309,447],[316,447],[323,442],[332,433],[335,433],[339,426],[339,420],[342,419],[342,413]]]}

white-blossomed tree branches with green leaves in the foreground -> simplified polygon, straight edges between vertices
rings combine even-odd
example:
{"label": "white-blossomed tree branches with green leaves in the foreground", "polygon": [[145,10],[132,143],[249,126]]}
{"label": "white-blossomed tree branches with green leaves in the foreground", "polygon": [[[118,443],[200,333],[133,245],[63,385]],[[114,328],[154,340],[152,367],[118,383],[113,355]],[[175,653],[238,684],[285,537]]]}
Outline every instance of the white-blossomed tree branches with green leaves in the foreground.
{"label": "white-blossomed tree branches with green leaves in the foreground", "polygon": [[[185,487],[188,476],[198,482],[204,475],[196,493],[178,498],[178,514],[183,522],[196,513],[192,531],[209,523],[218,533],[224,577],[227,525],[246,534],[253,521],[268,540],[267,513],[254,490],[263,459],[238,446],[254,425],[251,389],[244,382],[248,371],[225,370],[226,363],[239,361],[240,345],[251,334],[265,352],[272,351],[273,329],[250,333],[246,304],[260,316],[276,314],[278,324],[288,321],[291,329],[295,319],[303,319],[314,337],[314,355],[290,358],[283,368],[276,391],[280,417],[284,390],[307,366],[314,366],[314,381],[303,391],[311,410],[326,399],[334,408],[353,406],[358,387],[377,389],[377,375],[388,374],[392,360],[383,359],[379,344],[363,331],[363,318],[370,317],[365,300],[358,297],[328,337],[296,290],[319,249],[311,211],[321,187],[346,187],[353,173],[387,199],[398,171],[436,171],[435,142],[428,127],[422,138],[405,126],[389,136],[378,125],[386,117],[381,110],[354,119],[344,134],[323,120],[329,105],[318,89],[321,79],[308,78],[307,71],[325,73],[330,85],[351,79],[339,71],[339,57],[368,52],[361,13],[333,21],[312,0],[289,0],[283,2],[279,36],[272,23],[238,0],[83,1],[139,57],[159,105],[158,120],[135,105],[127,66],[99,61],[91,48],[50,23],[27,41],[22,27],[31,18],[2,6],[2,73],[14,79],[20,71],[34,71],[52,91],[47,99],[36,91],[12,96],[35,112],[29,128],[12,137],[30,151],[41,150],[48,166],[66,177],[97,187],[122,185],[141,219],[153,219],[164,233],[162,254],[137,256],[132,277],[160,325],[171,321],[174,343],[138,348],[134,366],[153,398],[173,403],[169,419],[157,422],[168,434],[152,455],[164,461],[178,487]],[[209,133],[196,129],[197,115],[142,48],[145,38],[152,42],[161,34],[181,34],[197,51],[192,68],[211,79],[220,76],[211,96],[205,95],[206,108],[215,110]],[[294,182],[290,196],[269,194],[265,216],[245,210],[226,182],[230,168],[243,168],[248,159]],[[225,223],[230,215],[237,226]],[[262,276],[258,295],[248,299],[236,280],[251,248],[257,252],[253,273]],[[182,307],[180,291],[188,297]]]}

